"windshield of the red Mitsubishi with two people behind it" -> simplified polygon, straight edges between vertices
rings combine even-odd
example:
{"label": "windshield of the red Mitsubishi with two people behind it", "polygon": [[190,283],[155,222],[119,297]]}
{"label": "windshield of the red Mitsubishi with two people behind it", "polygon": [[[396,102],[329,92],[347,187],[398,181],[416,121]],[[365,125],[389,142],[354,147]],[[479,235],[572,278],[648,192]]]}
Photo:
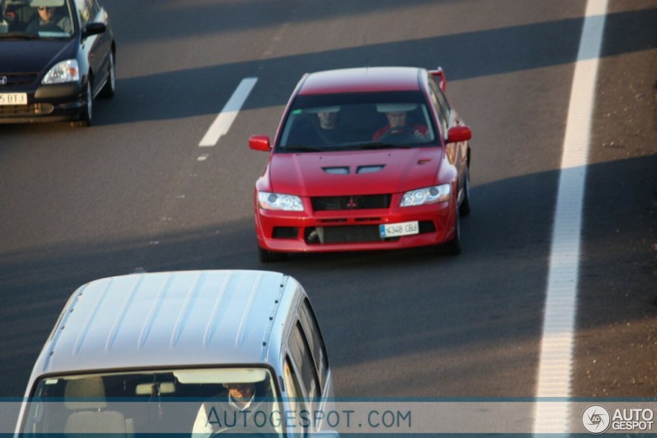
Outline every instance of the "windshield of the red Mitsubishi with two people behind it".
{"label": "windshield of the red Mitsubishi with two people behind it", "polygon": [[298,95],[276,152],[407,148],[436,144],[420,91]]}

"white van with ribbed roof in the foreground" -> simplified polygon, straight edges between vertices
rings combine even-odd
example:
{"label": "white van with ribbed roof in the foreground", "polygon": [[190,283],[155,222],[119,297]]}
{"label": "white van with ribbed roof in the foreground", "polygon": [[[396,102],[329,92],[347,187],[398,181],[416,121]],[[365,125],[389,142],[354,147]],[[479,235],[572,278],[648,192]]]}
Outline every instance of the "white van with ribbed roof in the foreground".
{"label": "white van with ribbed roof in the foreground", "polygon": [[16,433],[333,435],[307,414],[329,408],[332,388],[319,324],[294,278],[116,276],[70,297],[30,376]]}

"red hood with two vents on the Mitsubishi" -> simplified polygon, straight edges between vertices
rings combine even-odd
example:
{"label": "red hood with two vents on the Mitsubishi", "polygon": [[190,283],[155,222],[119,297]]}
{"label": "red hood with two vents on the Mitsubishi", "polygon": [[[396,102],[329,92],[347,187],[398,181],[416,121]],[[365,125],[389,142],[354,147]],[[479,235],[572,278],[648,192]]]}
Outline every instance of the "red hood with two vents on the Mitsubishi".
{"label": "red hood with two vents on the Mitsubishi", "polygon": [[271,188],[299,196],[405,192],[436,184],[441,154],[440,148],[273,154]]}

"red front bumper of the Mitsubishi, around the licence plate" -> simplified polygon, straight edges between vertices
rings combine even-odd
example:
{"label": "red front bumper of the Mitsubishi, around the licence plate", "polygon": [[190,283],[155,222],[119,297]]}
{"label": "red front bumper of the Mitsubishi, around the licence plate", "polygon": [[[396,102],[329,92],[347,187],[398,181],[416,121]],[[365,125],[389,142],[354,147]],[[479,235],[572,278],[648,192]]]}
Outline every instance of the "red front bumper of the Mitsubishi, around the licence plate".
{"label": "red front bumper of the Mitsubishi, around the licence plate", "polygon": [[[256,204],[258,245],[274,252],[397,250],[431,246],[454,238],[455,199],[415,207],[316,211],[272,211]],[[392,205],[399,205],[393,202]],[[382,224],[419,222],[419,234],[381,238]]]}

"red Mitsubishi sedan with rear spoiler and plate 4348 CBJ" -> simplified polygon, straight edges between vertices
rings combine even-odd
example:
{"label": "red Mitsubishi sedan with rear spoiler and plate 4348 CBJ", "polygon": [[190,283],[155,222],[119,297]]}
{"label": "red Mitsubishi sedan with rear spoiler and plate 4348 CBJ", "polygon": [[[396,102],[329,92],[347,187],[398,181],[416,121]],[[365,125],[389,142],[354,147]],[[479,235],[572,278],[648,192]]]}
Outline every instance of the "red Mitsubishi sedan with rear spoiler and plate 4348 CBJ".
{"label": "red Mitsubishi sedan with rear spoiler and plate 4348 CBJ", "polygon": [[306,74],[256,182],[260,259],[291,252],[432,246],[459,254],[470,212],[470,128],[445,98],[442,69]]}

